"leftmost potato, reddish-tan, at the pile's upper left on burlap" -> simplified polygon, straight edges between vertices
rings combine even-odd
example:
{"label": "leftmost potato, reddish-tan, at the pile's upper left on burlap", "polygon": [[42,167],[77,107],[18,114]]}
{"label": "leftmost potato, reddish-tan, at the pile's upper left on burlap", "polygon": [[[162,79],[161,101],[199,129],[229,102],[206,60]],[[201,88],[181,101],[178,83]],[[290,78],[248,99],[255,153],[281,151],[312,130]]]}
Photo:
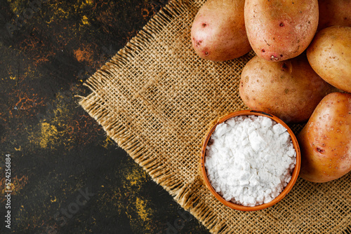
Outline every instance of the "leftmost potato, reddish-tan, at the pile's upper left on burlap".
{"label": "leftmost potato, reddish-tan, at the pile's upper left on burlap", "polygon": [[208,0],[194,18],[192,47],[199,57],[232,60],[249,53],[244,24],[244,0]]}

